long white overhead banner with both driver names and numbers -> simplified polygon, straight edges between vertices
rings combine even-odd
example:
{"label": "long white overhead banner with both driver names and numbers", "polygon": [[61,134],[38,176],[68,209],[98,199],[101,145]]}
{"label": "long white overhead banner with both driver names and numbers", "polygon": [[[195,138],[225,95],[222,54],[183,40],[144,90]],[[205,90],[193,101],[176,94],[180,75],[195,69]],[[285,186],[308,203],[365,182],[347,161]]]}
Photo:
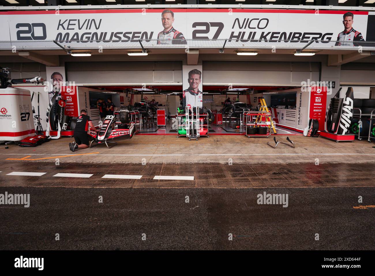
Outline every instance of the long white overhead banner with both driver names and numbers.
{"label": "long white overhead banner with both driver names and numbers", "polygon": [[374,24],[374,15],[369,20],[371,12],[253,9],[0,12],[0,36],[3,41],[94,41],[90,43],[159,39],[157,44],[183,44],[185,39],[336,41],[345,31],[346,12],[353,13],[355,32],[344,33],[345,41],[355,40],[358,33],[374,41],[374,33],[367,32]]}

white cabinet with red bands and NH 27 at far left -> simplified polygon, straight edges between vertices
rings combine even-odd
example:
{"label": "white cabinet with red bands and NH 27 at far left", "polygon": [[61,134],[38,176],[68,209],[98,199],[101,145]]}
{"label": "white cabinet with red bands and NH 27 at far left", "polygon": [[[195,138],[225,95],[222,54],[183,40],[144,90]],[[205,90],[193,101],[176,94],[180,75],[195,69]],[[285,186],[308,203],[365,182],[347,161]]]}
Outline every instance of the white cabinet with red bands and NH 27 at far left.
{"label": "white cabinet with red bands and NH 27 at far left", "polygon": [[0,141],[20,141],[34,132],[30,91],[0,89]]}

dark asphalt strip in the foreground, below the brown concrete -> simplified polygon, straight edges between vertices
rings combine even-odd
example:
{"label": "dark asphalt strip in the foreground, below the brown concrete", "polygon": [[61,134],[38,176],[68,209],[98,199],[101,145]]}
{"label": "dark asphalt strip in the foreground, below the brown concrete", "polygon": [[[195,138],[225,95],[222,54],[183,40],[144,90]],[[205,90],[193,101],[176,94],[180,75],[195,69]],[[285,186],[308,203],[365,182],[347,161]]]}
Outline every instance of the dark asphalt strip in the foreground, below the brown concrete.
{"label": "dark asphalt strip in the foreground, below the brown concrete", "polygon": [[[362,205],[358,196],[363,205],[373,204],[374,187],[6,191],[30,193],[30,207],[0,205],[1,250],[370,250],[375,245],[375,208],[353,208]],[[263,192],[287,193],[289,206],[258,205],[257,194]]]}

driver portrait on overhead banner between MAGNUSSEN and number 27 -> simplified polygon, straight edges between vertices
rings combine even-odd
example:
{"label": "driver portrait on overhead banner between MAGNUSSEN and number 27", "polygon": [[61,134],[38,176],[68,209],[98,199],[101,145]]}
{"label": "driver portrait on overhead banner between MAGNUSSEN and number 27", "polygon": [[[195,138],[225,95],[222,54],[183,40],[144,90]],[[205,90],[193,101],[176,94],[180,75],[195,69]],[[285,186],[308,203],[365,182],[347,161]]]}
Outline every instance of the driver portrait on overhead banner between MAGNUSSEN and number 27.
{"label": "driver portrait on overhead banner between MAGNUSSEN and number 27", "polygon": [[184,35],[172,26],[174,13],[170,10],[162,12],[163,30],[157,34],[157,44],[186,44]]}

